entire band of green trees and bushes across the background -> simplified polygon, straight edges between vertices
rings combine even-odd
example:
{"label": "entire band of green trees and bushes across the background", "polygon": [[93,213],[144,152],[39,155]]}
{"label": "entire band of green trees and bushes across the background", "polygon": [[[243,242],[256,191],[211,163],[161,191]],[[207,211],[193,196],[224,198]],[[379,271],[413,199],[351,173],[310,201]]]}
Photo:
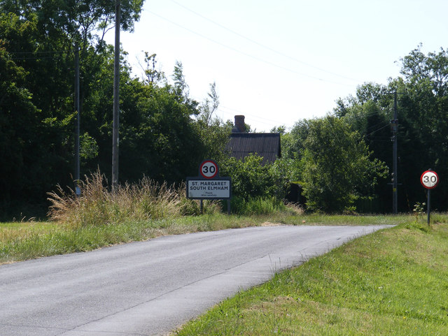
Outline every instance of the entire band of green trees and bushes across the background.
{"label": "entire band of green trees and bushes across the background", "polygon": [[[122,1],[122,29],[132,30],[144,0]],[[80,48],[81,175],[109,177],[112,150],[113,27],[111,1],[0,1],[0,206],[42,203],[57,184],[73,185],[75,52]],[[125,55],[125,53],[123,53]],[[426,198],[419,176],[433,168],[441,184],[433,207],[446,210],[448,187],[448,54],[401,59],[402,77],[387,85],[365,83],[339,98],[326,117],[299,120],[282,134],[282,158],[262,166],[225,152],[232,124],[214,118],[216,85],[202,103],[188,95],[181,62],[172,78],[146,52],[144,78],[132,75],[125,56],[120,74],[120,181],[146,176],[180,183],[214,159],[233,179],[233,195],[276,200],[300,184],[310,210],[390,212],[393,92],[398,92],[399,210]],[[250,129],[250,126],[248,126]],[[389,168],[389,175],[387,175]],[[388,177],[388,178],[384,178]]]}

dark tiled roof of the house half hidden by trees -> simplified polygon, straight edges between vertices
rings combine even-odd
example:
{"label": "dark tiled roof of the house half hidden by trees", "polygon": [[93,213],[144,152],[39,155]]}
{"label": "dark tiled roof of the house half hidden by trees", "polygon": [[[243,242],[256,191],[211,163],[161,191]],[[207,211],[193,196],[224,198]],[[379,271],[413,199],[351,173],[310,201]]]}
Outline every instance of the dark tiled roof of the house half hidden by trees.
{"label": "dark tiled roof of the house half hidden by trees", "polygon": [[263,157],[262,163],[272,163],[281,156],[280,134],[232,133],[226,149],[237,159],[256,153]]}

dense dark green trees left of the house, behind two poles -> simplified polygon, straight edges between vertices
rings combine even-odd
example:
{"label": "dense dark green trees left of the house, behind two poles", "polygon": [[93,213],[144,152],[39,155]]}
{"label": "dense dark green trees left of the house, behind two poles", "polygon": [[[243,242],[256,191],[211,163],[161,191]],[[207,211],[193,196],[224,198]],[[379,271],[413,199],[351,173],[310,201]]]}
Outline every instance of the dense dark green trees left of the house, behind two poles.
{"label": "dense dark green trees left of the house, behind two poles", "polygon": [[[80,48],[81,176],[111,172],[113,46],[111,1],[0,1],[0,205],[43,203],[57,184],[73,185],[74,44]],[[122,1],[132,29],[143,1]],[[125,54],[125,53],[124,53]],[[213,117],[215,85],[203,103],[188,96],[181,62],[172,80],[146,53],[145,78],[120,74],[120,180],[144,175],[181,182],[205,158],[219,159],[230,126]],[[172,84],[170,84],[170,82]]]}

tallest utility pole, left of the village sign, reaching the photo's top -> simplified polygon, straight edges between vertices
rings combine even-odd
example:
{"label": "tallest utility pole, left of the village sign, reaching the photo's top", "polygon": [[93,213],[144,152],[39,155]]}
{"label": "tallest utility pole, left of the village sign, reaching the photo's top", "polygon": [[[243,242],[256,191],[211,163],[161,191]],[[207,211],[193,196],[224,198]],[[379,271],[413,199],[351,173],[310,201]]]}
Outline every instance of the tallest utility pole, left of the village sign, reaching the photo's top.
{"label": "tallest utility pole, left of the village sign, reaching the photo's top", "polygon": [[120,0],[115,4],[115,59],[113,69],[113,132],[112,132],[112,189],[118,185],[118,145],[120,129]]}

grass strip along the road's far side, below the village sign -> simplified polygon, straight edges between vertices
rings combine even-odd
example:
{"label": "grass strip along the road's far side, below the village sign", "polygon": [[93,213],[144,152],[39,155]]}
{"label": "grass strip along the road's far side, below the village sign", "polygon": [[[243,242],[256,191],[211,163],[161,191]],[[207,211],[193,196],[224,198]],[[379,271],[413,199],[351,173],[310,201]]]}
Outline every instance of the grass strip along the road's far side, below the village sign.
{"label": "grass strip along the road's far side, below the village sign", "polygon": [[0,264],[55,254],[91,251],[113,244],[148,240],[161,235],[218,231],[269,224],[368,225],[399,224],[402,216],[323,216],[293,210],[258,216],[221,213],[162,219],[127,219],[102,225],[73,225],[55,221],[0,223]]}

